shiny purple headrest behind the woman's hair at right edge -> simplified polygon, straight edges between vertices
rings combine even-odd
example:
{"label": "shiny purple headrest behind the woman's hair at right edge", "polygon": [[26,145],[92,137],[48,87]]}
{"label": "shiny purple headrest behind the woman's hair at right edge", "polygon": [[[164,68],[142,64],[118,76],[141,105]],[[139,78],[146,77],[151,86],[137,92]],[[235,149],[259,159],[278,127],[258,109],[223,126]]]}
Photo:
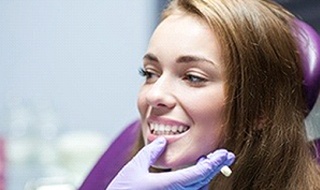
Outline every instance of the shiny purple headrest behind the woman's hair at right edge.
{"label": "shiny purple headrest behind the woman's hair at right edge", "polygon": [[298,44],[303,63],[303,86],[308,113],[315,105],[320,91],[320,36],[308,24],[296,20]]}

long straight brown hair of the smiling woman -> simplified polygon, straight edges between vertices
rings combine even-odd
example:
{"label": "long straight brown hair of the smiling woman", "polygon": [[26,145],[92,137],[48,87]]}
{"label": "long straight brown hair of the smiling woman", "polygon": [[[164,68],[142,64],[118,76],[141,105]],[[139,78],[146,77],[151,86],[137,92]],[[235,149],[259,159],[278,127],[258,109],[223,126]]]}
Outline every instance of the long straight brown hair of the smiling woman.
{"label": "long straight brown hair of the smiling woman", "polygon": [[236,162],[232,176],[218,175],[211,189],[320,189],[304,126],[294,16],[268,0],[173,0],[163,19],[177,11],[204,20],[222,48],[222,148],[234,152]]}

